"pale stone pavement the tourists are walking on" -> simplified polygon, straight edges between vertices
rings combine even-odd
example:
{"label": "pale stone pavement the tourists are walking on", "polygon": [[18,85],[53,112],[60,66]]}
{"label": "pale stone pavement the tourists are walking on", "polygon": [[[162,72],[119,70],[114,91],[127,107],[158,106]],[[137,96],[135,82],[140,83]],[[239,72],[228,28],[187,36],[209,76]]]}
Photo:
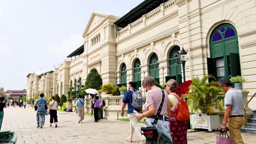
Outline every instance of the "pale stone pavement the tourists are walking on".
{"label": "pale stone pavement the tourists are walking on", "polygon": [[[43,129],[36,128],[36,112],[27,109],[11,107],[4,109],[3,130],[15,131],[18,134],[17,143],[127,143],[124,139],[129,130],[129,123],[103,120],[94,123],[93,117],[85,116],[84,123],[78,123],[75,113],[58,112],[59,127],[49,127],[49,116]],[[200,131],[188,133],[188,143],[216,143],[218,132]],[[256,143],[256,135],[243,133],[245,143]],[[138,143],[138,137],[135,142]]]}

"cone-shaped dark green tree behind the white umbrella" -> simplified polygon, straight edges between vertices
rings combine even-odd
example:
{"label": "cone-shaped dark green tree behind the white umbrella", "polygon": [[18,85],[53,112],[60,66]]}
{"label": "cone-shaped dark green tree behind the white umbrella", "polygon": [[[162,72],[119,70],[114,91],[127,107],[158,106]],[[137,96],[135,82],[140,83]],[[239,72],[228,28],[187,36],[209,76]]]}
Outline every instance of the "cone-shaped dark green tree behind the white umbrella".
{"label": "cone-shaped dark green tree behind the white umbrella", "polygon": [[85,81],[85,86],[83,89],[94,88],[94,89],[101,89],[102,86],[102,79],[101,75],[98,74],[96,69],[91,69],[90,73],[87,76]]}

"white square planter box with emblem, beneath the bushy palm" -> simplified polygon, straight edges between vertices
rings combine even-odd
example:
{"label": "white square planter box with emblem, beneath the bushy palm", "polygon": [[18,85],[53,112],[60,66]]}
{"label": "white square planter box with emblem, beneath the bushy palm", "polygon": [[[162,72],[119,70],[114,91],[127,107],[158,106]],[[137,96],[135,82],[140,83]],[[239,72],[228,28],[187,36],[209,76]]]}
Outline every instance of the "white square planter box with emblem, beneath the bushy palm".
{"label": "white square planter box with emblem, beneath the bushy palm", "polygon": [[192,122],[193,129],[208,129],[208,131],[212,131],[213,129],[220,129],[219,115],[208,116],[204,113],[195,113],[192,115]]}

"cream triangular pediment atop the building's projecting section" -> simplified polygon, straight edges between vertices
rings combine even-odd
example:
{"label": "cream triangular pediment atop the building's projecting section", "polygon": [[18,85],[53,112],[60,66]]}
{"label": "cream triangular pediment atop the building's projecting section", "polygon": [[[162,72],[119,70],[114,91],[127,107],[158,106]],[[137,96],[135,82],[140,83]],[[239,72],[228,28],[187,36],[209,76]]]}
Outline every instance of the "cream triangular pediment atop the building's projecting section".
{"label": "cream triangular pediment atop the building's projecting section", "polygon": [[88,25],[85,28],[84,34],[87,34],[92,29],[94,29],[96,26],[100,25],[100,23],[107,18],[107,15],[104,14],[98,14],[98,13],[92,13],[91,18],[88,22]]}

